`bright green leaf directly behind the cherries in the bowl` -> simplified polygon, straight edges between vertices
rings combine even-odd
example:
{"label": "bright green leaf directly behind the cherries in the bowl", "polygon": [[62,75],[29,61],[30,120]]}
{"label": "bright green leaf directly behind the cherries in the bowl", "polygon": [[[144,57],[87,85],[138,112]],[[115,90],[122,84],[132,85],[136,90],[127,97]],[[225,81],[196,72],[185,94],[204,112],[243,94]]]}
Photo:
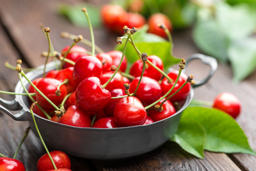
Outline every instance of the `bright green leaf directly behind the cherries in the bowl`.
{"label": "bright green leaf directly behind the cherries in the bowl", "polygon": [[[174,57],[170,52],[173,45],[163,38],[156,36],[155,34],[146,33],[145,29],[140,29],[132,37],[134,38],[136,47],[138,47],[141,53],[146,52],[148,56],[155,55],[162,59],[164,70],[167,70],[173,64],[180,63],[180,59]],[[115,50],[120,50],[122,52],[124,50],[124,41],[122,45],[116,45]],[[129,63],[134,63],[140,59],[131,43],[128,43],[127,45],[125,56]]]}

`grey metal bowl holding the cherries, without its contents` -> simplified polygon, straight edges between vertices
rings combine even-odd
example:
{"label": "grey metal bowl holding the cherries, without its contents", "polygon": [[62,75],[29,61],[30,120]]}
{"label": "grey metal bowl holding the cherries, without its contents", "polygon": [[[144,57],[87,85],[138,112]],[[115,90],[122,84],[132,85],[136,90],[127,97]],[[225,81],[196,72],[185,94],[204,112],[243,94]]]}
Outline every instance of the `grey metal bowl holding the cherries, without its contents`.
{"label": "grey metal bowl holding the cherries, without its contents", "polygon": [[[52,69],[54,67],[49,67],[47,71]],[[42,77],[42,73],[42,71],[33,71],[27,73],[27,76],[33,80]],[[22,82],[28,87],[28,82],[24,78]],[[20,82],[16,85],[15,92],[24,93]],[[193,99],[193,94],[194,91],[191,89],[184,106],[171,117],[143,126],[111,129],[77,128],[54,123],[38,115],[35,115],[35,119],[45,143],[56,150],[67,152],[72,156],[95,160],[128,158],[152,151],[171,138],[177,131],[182,111],[188,107]],[[28,97],[17,95],[15,101],[12,102],[13,105],[17,105],[16,101],[19,103],[19,108],[22,108],[18,115],[13,115],[4,107],[0,107],[0,110],[15,120],[29,121],[31,129],[37,135],[29,113]],[[18,109],[17,106],[8,105],[10,104],[8,101],[0,100],[0,103],[7,108]]]}

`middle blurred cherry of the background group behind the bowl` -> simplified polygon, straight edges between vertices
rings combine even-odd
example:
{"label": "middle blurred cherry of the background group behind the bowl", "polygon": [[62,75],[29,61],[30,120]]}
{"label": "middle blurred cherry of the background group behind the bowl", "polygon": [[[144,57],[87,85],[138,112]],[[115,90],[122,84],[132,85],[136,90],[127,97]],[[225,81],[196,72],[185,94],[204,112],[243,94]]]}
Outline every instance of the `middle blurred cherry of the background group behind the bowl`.
{"label": "middle blurred cherry of the background group behind the bowl", "polygon": [[128,15],[128,19],[124,23],[124,26],[127,26],[128,28],[132,28],[132,27],[140,28],[144,24],[146,24],[146,19],[140,13],[127,13],[127,15]]}

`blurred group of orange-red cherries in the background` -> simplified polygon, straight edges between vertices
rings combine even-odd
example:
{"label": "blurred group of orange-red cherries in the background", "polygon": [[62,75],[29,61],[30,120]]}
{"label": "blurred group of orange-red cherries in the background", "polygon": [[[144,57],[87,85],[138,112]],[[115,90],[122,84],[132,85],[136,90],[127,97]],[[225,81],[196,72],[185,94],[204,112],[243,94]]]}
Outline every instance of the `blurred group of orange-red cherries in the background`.
{"label": "blurred group of orange-red cherries in the background", "polygon": [[[124,26],[140,28],[147,23],[140,13],[127,12],[118,4],[106,4],[102,6],[100,13],[104,27],[120,35],[124,34]],[[157,27],[159,23],[163,23],[172,33],[172,22],[163,13],[154,13],[148,18],[148,33],[166,38],[164,31]]]}

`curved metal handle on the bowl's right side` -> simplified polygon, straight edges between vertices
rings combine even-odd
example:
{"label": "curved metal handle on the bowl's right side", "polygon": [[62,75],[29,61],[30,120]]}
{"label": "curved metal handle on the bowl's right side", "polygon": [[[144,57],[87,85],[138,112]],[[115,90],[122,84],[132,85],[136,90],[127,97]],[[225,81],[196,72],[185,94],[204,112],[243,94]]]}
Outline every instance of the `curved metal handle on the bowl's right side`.
{"label": "curved metal handle on the bowl's right side", "polygon": [[[195,88],[195,87],[199,87],[200,85],[203,85],[203,84],[208,82],[208,80],[216,72],[216,70],[218,68],[218,63],[217,63],[217,60],[214,57],[205,56],[203,54],[193,54],[193,55],[189,56],[189,58],[186,60],[186,64],[188,65],[190,61],[193,61],[193,59],[201,59],[201,61],[204,64],[207,64],[207,65],[211,66],[211,71],[210,71],[209,75],[207,75],[207,77],[204,78],[203,80],[196,81],[196,83],[193,85],[193,87]],[[184,68],[184,72],[185,71],[186,71],[186,68]]]}

